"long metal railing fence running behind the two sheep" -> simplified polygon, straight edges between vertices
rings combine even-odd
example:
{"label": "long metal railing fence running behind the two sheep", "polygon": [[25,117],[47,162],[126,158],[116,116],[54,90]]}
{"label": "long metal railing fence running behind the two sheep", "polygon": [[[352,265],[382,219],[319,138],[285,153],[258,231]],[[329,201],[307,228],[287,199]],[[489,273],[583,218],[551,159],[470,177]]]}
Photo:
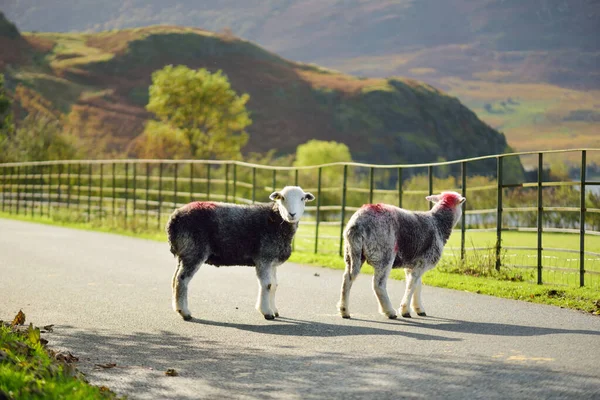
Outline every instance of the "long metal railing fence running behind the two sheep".
{"label": "long metal railing fence running behind the two sheep", "polygon": [[[455,190],[467,197],[467,202],[455,229],[460,238],[454,243],[459,244],[447,246],[447,251],[455,252],[461,259],[469,251],[490,251],[497,269],[505,266],[532,270],[540,284],[556,281],[550,279],[551,272],[576,275],[578,282],[567,279],[566,283],[584,286],[597,284],[600,279],[600,253],[591,251],[600,251],[600,205],[590,207],[590,202],[597,197],[600,201],[600,196],[589,190],[600,185],[600,181],[590,180],[586,174],[587,154],[599,151],[511,153],[413,165],[332,163],[283,167],[207,160],[7,163],[0,164],[0,207],[7,214],[162,230],[170,213],[190,201],[249,204],[268,201],[268,195],[277,188],[301,185],[313,192],[317,200],[307,206],[307,218],[301,222],[295,240],[296,249],[341,255],[344,225],[362,204],[384,202],[426,210],[430,205],[424,196]],[[557,182],[544,178],[544,157],[557,153],[581,157],[578,180]],[[507,182],[506,160],[524,155],[537,156],[537,179]],[[478,163],[489,165],[493,160],[497,167],[494,176],[469,173],[477,170]],[[563,197],[575,204],[558,204]],[[520,245],[527,243],[518,243],[521,239],[517,238],[516,244],[513,240],[506,245],[504,236],[511,231],[534,232],[530,238],[535,242]],[[474,244],[488,232],[493,233],[494,243]],[[567,235],[565,243],[573,242],[569,237],[576,236],[578,244],[545,246],[545,234]],[[527,262],[511,263],[511,257],[514,259],[519,253]],[[553,265],[553,256],[548,254],[557,253],[572,254],[573,258],[556,257],[561,262],[568,261],[568,265]]]}

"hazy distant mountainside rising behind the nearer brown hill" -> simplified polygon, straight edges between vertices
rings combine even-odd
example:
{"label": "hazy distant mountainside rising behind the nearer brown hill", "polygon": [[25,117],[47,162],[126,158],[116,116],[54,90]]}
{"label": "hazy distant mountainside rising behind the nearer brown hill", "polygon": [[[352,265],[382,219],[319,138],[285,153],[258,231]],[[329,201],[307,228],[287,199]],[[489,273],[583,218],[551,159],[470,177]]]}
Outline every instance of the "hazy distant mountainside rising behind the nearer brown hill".
{"label": "hazy distant mountainside rising behind the nearer brown hill", "polygon": [[44,4],[13,0],[2,9],[31,31],[92,32],[162,23],[230,29],[292,60],[352,75],[426,82],[458,97],[504,132],[517,150],[600,146],[598,1]]}

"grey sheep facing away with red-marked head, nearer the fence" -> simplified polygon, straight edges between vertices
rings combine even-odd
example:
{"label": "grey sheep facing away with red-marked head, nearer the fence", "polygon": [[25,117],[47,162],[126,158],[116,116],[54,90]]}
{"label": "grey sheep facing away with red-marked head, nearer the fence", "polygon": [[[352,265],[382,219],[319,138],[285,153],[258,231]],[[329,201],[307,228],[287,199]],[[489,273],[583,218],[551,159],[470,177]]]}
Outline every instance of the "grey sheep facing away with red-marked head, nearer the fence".
{"label": "grey sheep facing away with red-marked head, nearer the fence", "polygon": [[421,301],[421,278],[440,260],[466,200],[456,192],[443,192],[426,199],[435,203],[427,212],[411,212],[389,204],[365,204],[350,218],[344,229],[346,271],[338,303],[343,318],[350,318],[350,289],[365,261],[375,270],[373,291],[382,314],[396,318],[385,283],[392,268],[404,268],[406,289],[398,312],[410,317],[410,304],[418,315],[426,315]]}

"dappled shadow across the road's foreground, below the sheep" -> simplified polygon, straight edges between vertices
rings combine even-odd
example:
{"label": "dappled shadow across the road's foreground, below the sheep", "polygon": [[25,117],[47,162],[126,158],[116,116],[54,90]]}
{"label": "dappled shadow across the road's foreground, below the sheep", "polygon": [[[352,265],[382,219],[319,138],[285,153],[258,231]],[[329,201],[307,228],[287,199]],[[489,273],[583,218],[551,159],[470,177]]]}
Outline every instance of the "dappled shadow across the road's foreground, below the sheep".
{"label": "dappled shadow across the road's foreground, below the sheep", "polygon": [[[291,321],[288,329],[303,325],[311,324]],[[238,324],[236,329],[246,328]],[[233,337],[219,341],[206,340],[201,333],[190,338],[170,331],[115,334],[66,326],[47,335],[51,346],[67,348],[80,358],[79,367],[92,383],[106,384],[132,399],[591,399],[600,393],[600,378],[593,372],[588,376],[543,363],[440,352],[423,356],[411,354],[402,341],[371,356],[347,352],[336,339],[327,339],[329,348],[299,351],[257,346],[243,332]],[[108,363],[116,366],[95,367]],[[166,376],[169,368],[179,376]]]}

